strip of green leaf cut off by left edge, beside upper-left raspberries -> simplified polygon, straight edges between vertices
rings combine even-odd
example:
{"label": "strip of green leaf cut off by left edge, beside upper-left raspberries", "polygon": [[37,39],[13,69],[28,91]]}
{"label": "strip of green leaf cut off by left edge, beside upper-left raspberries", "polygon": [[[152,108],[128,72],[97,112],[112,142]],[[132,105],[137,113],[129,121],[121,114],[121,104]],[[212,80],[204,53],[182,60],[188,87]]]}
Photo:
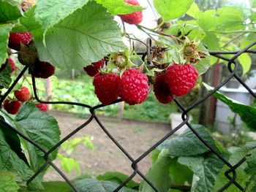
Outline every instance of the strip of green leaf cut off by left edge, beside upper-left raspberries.
{"label": "strip of green leaf cut off by left edge, beside upper-left raspberries", "polygon": [[12,25],[0,25],[0,64],[4,64],[5,60],[8,57],[7,49],[9,42],[9,33],[11,29]]}

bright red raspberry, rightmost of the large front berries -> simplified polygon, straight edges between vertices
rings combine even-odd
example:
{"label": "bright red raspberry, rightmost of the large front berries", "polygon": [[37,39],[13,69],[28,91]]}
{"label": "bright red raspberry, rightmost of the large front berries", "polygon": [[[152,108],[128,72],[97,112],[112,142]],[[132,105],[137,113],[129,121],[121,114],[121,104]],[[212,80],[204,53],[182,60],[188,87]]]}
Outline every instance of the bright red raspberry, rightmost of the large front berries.
{"label": "bright red raspberry, rightmost of the large front berries", "polygon": [[175,96],[187,95],[194,88],[197,77],[197,70],[189,64],[173,64],[165,72],[165,82]]}

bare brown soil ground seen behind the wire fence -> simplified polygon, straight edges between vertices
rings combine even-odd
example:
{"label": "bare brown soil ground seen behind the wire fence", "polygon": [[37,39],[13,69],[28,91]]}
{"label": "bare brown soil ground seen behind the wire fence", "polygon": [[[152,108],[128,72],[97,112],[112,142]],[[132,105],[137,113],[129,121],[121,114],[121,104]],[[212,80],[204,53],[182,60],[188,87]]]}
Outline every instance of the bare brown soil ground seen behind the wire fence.
{"label": "bare brown soil ground seen behind the wire fence", "polygon": [[[78,115],[68,112],[50,112],[59,122],[61,128],[61,138],[64,138],[71,131],[86,122],[88,118],[79,118]],[[170,124],[167,123],[145,123],[133,120],[119,120],[117,118],[99,117],[102,124],[108,129],[110,134],[118,143],[136,159],[154,145],[159,139],[170,131]],[[96,120],[92,120],[88,126],[80,130],[75,137],[85,137],[89,135],[93,137],[94,150],[89,150],[84,145],[79,145],[72,155],[79,164],[82,174],[91,174],[97,176],[105,172],[123,172],[124,174],[132,174],[131,161],[124,153],[110,140],[110,138],[102,131]],[[61,168],[57,159],[53,161],[56,166]],[[146,174],[151,166],[150,155],[143,158],[138,164],[138,169]],[[67,174],[69,179],[74,178],[78,174],[73,170]],[[63,180],[63,178],[53,169],[50,168],[45,175],[45,180]],[[141,180],[139,176],[135,180]]]}

